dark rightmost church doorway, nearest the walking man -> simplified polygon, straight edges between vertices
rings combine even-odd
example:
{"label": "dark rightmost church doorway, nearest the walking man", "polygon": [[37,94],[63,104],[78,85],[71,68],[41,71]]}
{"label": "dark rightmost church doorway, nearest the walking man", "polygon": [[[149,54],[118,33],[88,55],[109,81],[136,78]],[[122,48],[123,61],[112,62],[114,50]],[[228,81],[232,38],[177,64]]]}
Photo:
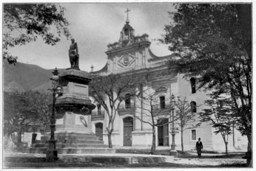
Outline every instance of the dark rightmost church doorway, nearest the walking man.
{"label": "dark rightmost church doorway, nearest the walking man", "polygon": [[[168,119],[158,120],[158,124],[163,125],[168,123]],[[169,131],[168,124],[158,126],[158,146],[169,146]]]}

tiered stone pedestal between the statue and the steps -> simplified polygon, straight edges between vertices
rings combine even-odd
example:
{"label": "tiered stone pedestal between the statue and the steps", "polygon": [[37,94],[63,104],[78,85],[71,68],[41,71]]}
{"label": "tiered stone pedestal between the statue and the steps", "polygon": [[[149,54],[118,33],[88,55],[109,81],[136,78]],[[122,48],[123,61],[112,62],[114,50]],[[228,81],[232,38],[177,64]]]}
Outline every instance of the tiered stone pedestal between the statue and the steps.
{"label": "tiered stone pedestal between the statue and the steps", "polygon": [[55,133],[92,133],[90,114],[95,105],[89,99],[88,77],[86,71],[75,69],[68,69],[61,75],[59,85],[63,95],[55,102]]}

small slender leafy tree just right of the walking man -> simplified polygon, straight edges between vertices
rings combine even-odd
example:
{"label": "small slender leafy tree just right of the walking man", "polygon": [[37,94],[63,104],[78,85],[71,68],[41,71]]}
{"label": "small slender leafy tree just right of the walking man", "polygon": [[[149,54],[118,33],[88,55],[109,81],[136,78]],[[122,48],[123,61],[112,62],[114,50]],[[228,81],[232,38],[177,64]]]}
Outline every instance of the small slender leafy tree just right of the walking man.
{"label": "small slender leafy tree just right of the walking man", "polygon": [[235,104],[230,98],[219,97],[206,100],[206,105],[209,105],[209,108],[200,113],[201,122],[211,122],[212,127],[215,128],[215,133],[220,133],[227,154],[229,135],[232,134],[231,127],[239,122]]}

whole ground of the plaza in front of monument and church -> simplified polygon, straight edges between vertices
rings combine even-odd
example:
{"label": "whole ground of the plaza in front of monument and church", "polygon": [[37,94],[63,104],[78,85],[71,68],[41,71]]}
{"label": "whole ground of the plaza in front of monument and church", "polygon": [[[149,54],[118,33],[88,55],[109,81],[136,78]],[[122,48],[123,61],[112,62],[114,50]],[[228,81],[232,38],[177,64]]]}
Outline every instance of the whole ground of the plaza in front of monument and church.
{"label": "whole ground of the plaza in front of monument and church", "polygon": [[[169,150],[157,149],[157,155],[149,155],[149,149],[141,148],[119,148],[115,154],[88,154],[88,155],[59,155],[58,161],[45,161],[45,154],[27,153],[4,153],[4,168],[190,168],[190,167],[246,167],[246,159],[243,159],[243,152],[224,153],[207,152],[202,158],[197,157],[195,151],[181,153],[178,151],[178,158],[172,158]],[[165,158],[164,160],[152,160],[152,158]],[[94,158],[84,160],[84,158]],[[112,158],[112,159],[110,159]],[[137,162],[127,162],[121,158],[142,158]],[[145,159],[146,158],[146,159]],[[154,161],[154,162],[152,162]]]}

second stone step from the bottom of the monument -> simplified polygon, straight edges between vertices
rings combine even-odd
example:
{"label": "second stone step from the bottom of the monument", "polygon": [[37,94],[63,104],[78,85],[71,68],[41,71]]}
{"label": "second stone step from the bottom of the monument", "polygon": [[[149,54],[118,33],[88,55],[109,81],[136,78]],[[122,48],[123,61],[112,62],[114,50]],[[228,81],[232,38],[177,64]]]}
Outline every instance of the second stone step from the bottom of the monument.
{"label": "second stone step from the bottom of the monument", "polygon": [[[31,144],[30,147],[49,147],[49,144]],[[107,144],[59,144],[56,143],[56,148],[67,148],[67,147],[73,147],[73,148],[107,148]]]}

